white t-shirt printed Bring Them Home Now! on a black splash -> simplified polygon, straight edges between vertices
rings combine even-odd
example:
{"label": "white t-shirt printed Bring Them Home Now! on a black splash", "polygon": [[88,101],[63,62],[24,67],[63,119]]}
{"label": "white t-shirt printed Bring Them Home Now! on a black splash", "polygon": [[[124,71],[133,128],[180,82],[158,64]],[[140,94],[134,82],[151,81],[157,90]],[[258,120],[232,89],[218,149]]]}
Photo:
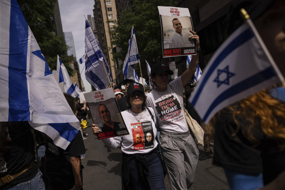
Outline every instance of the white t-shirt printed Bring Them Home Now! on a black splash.
{"label": "white t-shirt printed Bring Them Home Now! on a black splash", "polygon": [[166,91],[157,92],[152,90],[146,94],[146,104],[155,110],[159,128],[163,131],[176,133],[188,131],[187,121],[181,105],[181,103],[183,104],[183,91],[184,86],[181,76],[179,76],[167,85]]}

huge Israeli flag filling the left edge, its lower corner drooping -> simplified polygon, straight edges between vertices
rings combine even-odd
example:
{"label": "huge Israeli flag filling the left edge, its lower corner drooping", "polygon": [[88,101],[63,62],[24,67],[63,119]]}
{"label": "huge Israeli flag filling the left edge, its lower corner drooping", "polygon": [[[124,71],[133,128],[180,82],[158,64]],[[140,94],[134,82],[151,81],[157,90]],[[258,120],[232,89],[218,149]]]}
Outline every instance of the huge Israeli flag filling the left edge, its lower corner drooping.
{"label": "huge Israeli flag filling the left edge, its lower corner drooping", "polygon": [[0,0],[0,121],[29,124],[63,148],[80,124],[16,0]]}

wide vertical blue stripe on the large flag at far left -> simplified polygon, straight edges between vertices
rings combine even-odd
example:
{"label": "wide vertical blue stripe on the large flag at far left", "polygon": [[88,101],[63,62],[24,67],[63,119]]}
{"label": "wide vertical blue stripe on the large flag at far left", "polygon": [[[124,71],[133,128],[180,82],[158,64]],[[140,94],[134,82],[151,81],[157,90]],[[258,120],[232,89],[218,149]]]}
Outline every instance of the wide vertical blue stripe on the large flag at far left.
{"label": "wide vertical blue stripe on the large flag at far left", "polygon": [[9,121],[29,121],[27,51],[29,27],[16,0],[11,1],[9,29]]}

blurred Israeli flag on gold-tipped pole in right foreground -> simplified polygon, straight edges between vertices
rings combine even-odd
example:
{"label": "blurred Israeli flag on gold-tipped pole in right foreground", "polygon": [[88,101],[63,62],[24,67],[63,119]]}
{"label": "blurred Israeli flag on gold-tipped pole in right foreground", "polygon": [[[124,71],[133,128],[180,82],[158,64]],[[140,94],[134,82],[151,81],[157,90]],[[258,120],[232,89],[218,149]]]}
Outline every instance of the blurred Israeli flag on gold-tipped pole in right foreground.
{"label": "blurred Israeli flag on gold-tipped pole in right foreground", "polygon": [[190,102],[208,123],[224,107],[281,81],[284,77],[248,19],[212,56]]}

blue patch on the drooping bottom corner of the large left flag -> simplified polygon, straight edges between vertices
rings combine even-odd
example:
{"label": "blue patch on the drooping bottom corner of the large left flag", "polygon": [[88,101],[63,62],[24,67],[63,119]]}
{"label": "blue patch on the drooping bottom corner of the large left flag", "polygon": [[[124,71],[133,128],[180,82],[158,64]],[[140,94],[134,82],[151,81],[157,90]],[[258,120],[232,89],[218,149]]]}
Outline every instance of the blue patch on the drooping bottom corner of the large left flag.
{"label": "blue patch on the drooping bottom corner of the large left flag", "polygon": [[59,135],[66,139],[67,141],[71,142],[75,135],[78,133],[78,130],[75,129],[69,123],[53,123],[49,124],[53,129],[59,133]]}

